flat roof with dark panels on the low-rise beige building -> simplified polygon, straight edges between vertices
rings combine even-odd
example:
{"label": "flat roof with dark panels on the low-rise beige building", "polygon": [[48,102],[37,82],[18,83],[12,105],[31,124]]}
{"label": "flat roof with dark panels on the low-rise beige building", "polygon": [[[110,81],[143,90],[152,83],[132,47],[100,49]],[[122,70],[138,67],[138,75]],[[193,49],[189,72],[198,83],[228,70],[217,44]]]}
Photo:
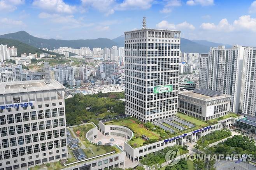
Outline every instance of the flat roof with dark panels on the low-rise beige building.
{"label": "flat roof with dark panels on the low-rise beige building", "polygon": [[216,100],[216,99],[231,97],[230,95],[227,95],[227,94],[217,93],[217,91],[214,91],[214,90],[210,90],[210,91],[205,90],[205,89],[204,89],[205,91],[198,90],[198,89],[195,89],[195,90],[188,91],[188,92],[181,92],[180,94],[188,96],[188,97],[194,97],[194,98],[197,98],[197,99],[201,99],[201,100],[204,100],[204,101],[212,101],[212,100]]}

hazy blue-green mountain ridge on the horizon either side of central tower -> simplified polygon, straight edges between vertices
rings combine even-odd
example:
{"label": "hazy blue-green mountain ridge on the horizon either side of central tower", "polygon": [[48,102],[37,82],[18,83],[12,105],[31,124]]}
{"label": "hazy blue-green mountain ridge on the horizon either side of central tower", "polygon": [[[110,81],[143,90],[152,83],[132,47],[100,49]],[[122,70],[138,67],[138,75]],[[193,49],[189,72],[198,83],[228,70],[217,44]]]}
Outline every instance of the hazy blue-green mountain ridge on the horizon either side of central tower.
{"label": "hazy blue-green mountain ridge on the horizon either side of central tower", "polygon": [[[0,35],[0,38],[18,40],[36,48],[47,48],[50,50],[58,49],[59,47],[71,47],[79,49],[80,47],[89,47],[93,49],[95,47],[111,48],[112,46],[124,47],[124,35],[118,36],[110,40],[109,38],[97,38],[87,40],[56,40],[54,38],[44,39],[30,35],[26,31],[18,31],[16,33],[8,33]],[[214,43],[206,40],[188,40],[181,38],[181,52],[192,53],[208,53],[212,45],[219,46],[222,43]]]}

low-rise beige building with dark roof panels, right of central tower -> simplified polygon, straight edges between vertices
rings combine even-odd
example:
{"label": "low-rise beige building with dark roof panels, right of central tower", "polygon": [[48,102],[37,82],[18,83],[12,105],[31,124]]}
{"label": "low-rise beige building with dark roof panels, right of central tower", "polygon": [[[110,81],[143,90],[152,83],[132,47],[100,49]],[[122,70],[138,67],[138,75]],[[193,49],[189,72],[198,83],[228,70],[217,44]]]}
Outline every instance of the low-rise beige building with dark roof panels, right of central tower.
{"label": "low-rise beige building with dark roof panels, right of central tower", "polygon": [[178,111],[202,120],[211,120],[229,114],[230,95],[214,90],[195,89],[181,92]]}

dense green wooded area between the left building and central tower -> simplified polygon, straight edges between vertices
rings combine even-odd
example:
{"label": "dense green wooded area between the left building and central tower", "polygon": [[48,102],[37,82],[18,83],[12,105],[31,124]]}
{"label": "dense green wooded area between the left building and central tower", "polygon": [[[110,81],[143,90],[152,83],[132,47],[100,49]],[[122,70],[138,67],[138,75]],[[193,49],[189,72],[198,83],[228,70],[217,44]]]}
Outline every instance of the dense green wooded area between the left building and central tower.
{"label": "dense green wooded area between the left building and central tower", "polygon": [[124,92],[98,93],[94,95],[75,94],[65,99],[67,126],[81,122],[93,122],[124,114]]}

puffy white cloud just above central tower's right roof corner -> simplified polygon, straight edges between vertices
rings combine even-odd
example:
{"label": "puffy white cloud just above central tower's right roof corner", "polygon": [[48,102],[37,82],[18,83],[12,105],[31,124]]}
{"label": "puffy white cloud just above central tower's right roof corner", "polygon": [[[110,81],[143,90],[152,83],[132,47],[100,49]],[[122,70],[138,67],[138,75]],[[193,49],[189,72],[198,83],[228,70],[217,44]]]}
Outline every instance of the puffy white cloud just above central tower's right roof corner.
{"label": "puffy white cloud just above central tower's right roof corner", "polygon": [[191,30],[195,29],[195,26],[187,23],[187,21],[175,25],[173,23],[169,23],[168,21],[163,20],[160,23],[156,24],[156,27],[161,29],[191,29]]}

